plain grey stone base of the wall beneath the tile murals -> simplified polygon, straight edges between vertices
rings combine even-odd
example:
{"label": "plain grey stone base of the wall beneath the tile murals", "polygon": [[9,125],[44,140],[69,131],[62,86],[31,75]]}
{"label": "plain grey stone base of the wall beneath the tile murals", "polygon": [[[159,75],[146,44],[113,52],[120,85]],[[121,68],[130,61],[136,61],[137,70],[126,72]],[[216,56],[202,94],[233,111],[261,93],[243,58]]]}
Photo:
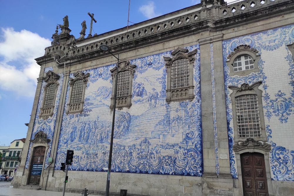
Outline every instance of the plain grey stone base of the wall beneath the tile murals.
{"label": "plain grey stone base of the wall beneath the tile murals", "polygon": [[[27,172],[25,171],[24,174]],[[51,174],[51,175],[50,175]],[[86,188],[92,195],[105,195],[106,172],[69,171],[66,192],[81,193]],[[41,190],[45,190],[47,176],[41,179]],[[62,192],[65,173],[55,170],[49,173],[46,190]],[[14,188],[21,188],[26,176],[16,176],[12,182]],[[270,185],[271,186],[271,185]],[[293,182],[273,181],[274,195],[292,195]],[[240,195],[238,181],[228,175],[193,177],[177,175],[111,173],[110,192],[118,196],[121,189],[128,190],[128,195],[150,196],[195,196],[195,195]]]}

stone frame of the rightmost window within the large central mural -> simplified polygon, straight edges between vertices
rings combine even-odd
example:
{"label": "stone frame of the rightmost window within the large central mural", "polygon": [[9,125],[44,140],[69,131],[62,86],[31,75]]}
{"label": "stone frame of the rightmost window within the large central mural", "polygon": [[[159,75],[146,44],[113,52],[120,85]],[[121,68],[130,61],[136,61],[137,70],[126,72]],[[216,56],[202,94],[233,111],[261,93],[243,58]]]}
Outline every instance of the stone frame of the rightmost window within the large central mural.
{"label": "stone frame of the rightmost window within the large central mural", "polygon": [[[167,73],[167,85],[166,85],[166,102],[171,103],[172,101],[183,101],[183,100],[193,100],[194,95],[194,62],[195,62],[195,54],[197,53],[197,49],[188,52],[188,49],[178,47],[176,50],[171,52],[172,58],[163,57],[164,61],[166,61],[166,73]],[[171,65],[174,61],[182,58],[187,58],[189,61],[189,86],[183,88],[171,88]]]}

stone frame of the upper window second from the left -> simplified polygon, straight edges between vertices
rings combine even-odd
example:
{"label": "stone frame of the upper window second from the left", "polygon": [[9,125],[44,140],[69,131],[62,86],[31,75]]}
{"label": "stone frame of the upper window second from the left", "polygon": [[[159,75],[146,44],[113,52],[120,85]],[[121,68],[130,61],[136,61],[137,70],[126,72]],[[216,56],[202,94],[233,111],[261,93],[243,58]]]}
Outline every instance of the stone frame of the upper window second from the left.
{"label": "stone frame of the upper window second from the left", "polygon": [[[66,114],[69,113],[82,113],[83,112],[83,105],[84,105],[84,98],[85,98],[85,89],[86,85],[88,82],[88,77],[90,76],[90,73],[83,73],[81,71],[77,71],[74,73],[75,78],[69,78],[69,99],[68,99],[68,104],[66,108]],[[72,97],[72,91],[73,91],[73,85],[76,81],[83,80],[83,91],[82,91],[82,97],[81,97],[81,102],[78,103],[71,103],[71,97]]]}

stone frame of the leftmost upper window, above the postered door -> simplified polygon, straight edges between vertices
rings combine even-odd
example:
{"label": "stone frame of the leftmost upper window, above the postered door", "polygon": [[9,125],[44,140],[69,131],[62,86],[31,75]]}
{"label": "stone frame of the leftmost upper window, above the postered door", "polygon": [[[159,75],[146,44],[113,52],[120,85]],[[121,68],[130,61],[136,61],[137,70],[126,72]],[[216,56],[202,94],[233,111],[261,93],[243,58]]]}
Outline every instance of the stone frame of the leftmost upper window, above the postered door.
{"label": "stone frame of the leftmost upper window, above the postered door", "polygon": [[[45,88],[44,88],[44,96],[43,96],[43,103],[42,103],[42,107],[40,109],[40,115],[39,117],[41,118],[44,118],[44,119],[47,119],[49,117],[51,117],[53,115],[53,110],[54,110],[54,105],[55,105],[55,99],[56,99],[56,93],[57,93],[57,89],[58,89],[58,86],[59,86],[59,80],[60,76],[57,75],[56,73],[54,73],[53,71],[48,71],[46,73],[46,77],[43,78],[44,81],[47,83]],[[52,84],[55,84],[56,87],[55,87],[55,92],[54,92],[54,98],[53,98],[53,103],[51,106],[47,106],[47,107],[44,107],[45,105],[45,98],[46,98],[46,95],[47,95],[47,90],[48,90],[48,87]]]}

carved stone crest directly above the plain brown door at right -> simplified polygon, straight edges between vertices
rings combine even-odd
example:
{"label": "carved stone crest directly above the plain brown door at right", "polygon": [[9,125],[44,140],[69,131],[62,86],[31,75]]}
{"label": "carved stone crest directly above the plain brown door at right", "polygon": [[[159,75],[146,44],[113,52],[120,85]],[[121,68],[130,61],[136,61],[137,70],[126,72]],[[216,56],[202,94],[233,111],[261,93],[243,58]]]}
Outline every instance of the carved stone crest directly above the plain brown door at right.
{"label": "carved stone crest directly above the plain brown door at right", "polygon": [[270,145],[265,142],[256,141],[253,138],[247,138],[246,141],[235,143],[233,145],[234,151],[240,151],[244,149],[253,149],[257,148],[259,150],[270,151]]}

